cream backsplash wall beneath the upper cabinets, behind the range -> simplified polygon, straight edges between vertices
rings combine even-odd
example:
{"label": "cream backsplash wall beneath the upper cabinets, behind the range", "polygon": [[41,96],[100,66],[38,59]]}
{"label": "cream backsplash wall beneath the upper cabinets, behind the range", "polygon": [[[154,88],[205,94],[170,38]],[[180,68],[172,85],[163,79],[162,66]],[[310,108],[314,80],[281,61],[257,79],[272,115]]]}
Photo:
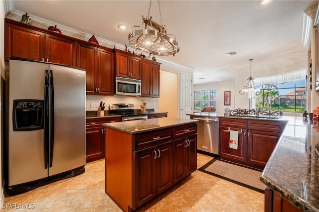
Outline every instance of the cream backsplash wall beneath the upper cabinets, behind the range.
{"label": "cream backsplash wall beneath the upper cabinets, behind the range", "polygon": [[[140,105],[143,100],[145,100],[146,108],[152,108],[155,111],[158,111],[159,98],[150,98],[150,97],[130,97],[130,96],[100,96],[100,95],[86,95],[86,111],[97,111],[100,102],[105,103],[105,110],[109,110],[110,104],[124,104],[130,103],[134,104],[135,109],[140,109]],[[96,106],[91,106],[93,103]]]}

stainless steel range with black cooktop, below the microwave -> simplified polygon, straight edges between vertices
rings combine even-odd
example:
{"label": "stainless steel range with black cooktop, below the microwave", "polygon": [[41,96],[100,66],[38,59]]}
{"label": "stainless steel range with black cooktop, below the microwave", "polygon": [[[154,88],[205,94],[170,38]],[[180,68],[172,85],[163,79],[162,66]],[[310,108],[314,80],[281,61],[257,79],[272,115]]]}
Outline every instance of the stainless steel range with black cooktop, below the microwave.
{"label": "stainless steel range with black cooktop, below the microwave", "polygon": [[134,111],[133,104],[110,104],[110,114],[122,115],[122,121],[131,121],[139,119],[148,119],[147,114],[141,114]]}

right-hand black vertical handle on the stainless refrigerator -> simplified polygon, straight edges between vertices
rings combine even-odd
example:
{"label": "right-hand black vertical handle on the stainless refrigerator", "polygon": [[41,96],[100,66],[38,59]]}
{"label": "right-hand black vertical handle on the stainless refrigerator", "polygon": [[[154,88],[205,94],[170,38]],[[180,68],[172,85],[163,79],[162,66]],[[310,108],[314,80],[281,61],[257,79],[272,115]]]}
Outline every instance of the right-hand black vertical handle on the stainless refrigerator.
{"label": "right-hand black vertical handle on the stainless refrigerator", "polygon": [[50,70],[50,109],[51,109],[51,134],[50,134],[50,165],[52,167],[53,162],[53,147],[54,147],[54,83],[53,83],[53,72]]}

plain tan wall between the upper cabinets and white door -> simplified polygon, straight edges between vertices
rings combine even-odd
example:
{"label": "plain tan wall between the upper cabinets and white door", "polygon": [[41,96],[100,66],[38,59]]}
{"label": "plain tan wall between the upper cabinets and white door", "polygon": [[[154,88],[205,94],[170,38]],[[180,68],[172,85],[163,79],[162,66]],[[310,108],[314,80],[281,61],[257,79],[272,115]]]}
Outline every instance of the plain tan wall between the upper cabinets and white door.
{"label": "plain tan wall between the upper cabinets and white door", "polygon": [[168,112],[167,117],[178,117],[178,75],[160,71],[159,111]]}

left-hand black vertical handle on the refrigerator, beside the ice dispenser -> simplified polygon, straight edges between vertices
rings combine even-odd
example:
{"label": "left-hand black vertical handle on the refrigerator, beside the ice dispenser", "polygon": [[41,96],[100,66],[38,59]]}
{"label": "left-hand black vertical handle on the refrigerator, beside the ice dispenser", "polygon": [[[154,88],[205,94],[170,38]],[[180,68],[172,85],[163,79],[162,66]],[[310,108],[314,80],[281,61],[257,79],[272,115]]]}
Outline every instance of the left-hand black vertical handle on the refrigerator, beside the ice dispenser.
{"label": "left-hand black vertical handle on the refrigerator, beside the ice dispenser", "polygon": [[44,82],[44,169],[48,168],[49,159],[49,71],[45,70]]}

